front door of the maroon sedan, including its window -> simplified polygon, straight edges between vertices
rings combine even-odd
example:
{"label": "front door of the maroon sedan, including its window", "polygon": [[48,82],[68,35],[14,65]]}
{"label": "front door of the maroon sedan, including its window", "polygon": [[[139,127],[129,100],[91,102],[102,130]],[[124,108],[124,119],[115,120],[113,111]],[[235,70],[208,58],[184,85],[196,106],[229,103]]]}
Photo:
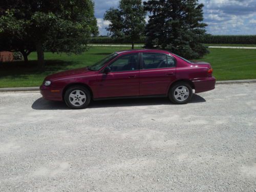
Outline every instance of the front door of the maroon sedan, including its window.
{"label": "front door of the maroon sedan, including its window", "polygon": [[99,98],[139,95],[139,53],[121,55],[108,67],[97,76]]}

